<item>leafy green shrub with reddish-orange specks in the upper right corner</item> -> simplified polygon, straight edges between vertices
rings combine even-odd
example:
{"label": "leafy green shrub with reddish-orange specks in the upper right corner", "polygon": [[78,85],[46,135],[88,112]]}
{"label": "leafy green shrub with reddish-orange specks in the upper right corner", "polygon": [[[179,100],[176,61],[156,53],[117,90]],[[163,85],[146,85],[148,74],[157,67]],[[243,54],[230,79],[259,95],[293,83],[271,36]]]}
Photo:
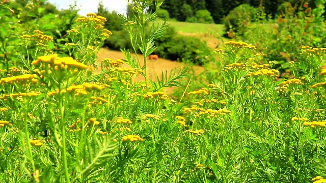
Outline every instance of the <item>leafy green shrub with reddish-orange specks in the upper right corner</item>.
{"label": "leafy green shrub with reddish-orange specks in the upper right corner", "polygon": [[[324,47],[324,18],[322,17],[323,6],[311,9],[308,4],[286,4],[286,10],[277,17],[276,22],[261,21],[252,24],[241,38],[257,45],[261,52],[268,52],[265,60],[275,60],[274,66],[282,73],[289,70],[290,62],[296,61],[300,55],[300,45],[312,47]],[[314,14],[314,12],[316,12]],[[317,14],[319,12],[319,14]],[[262,23],[265,23],[263,28]]]}

